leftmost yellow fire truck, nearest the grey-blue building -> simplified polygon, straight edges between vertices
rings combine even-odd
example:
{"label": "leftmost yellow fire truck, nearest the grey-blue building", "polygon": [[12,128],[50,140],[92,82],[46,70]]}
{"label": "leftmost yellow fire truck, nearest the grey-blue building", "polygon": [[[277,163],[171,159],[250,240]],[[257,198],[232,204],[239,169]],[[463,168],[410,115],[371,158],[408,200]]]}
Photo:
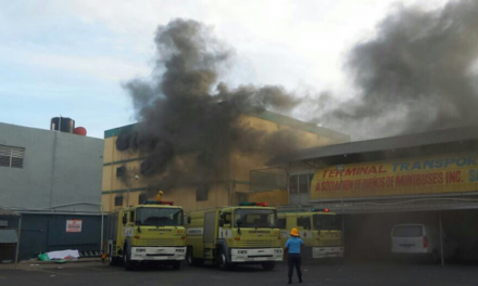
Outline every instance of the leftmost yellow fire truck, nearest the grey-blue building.
{"label": "leftmost yellow fire truck, nearest the grey-blue building", "polygon": [[186,259],[186,229],[183,208],[172,202],[147,202],[122,208],[108,217],[110,264],[155,261],[178,270]]}

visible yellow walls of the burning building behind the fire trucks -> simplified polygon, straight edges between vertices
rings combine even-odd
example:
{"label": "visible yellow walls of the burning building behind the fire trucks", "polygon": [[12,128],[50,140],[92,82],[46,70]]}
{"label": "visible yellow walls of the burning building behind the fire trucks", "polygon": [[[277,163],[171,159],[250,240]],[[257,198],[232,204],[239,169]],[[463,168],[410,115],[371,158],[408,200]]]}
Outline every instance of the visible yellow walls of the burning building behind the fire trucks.
{"label": "visible yellow walls of the burning building behind the fire trucks", "polygon": [[[291,129],[298,132],[304,147],[344,143],[350,136],[306,123],[271,112],[242,114],[240,122],[255,130],[275,132]],[[106,130],[104,132],[102,204],[104,210],[113,210],[127,205],[137,205],[152,198],[159,190],[153,190],[138,171],[144,156],[137,152],[118,152],[116,140],[121,132],[133,130],[136,125]],[[181,154],[187,161],[191,153]],[[163,199],[173,200],[186,210],[214,206],[235,205],[243,200],[266,200],[271,205],[289,204],[287,173],[282,168],[269,168],[264,156],[239,156],[234,151],[224,156],[225,176],[217,178],[209,188],[189,185],[164,190]],[[192,174],[191,174],[192,176]],[[161,188],[161,186],[160,186]],[[261,192],[260,192],[261,191]],[[265,192],[264,192],[265,191]]]}

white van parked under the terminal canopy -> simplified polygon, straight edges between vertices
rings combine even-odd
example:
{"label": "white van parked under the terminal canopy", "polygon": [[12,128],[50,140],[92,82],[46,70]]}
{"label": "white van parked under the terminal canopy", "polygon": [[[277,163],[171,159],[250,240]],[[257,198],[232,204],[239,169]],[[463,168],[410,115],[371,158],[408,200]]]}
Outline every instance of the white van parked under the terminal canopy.
{"label": "white van parked under the terminal canopy", "polygon": [[[392,229],[393,255],[425,255],[433,261],[441,258],[440,231],[438,226],[427,224],[397,224]],[[457,244],[446,238],[443,234],[444,257],[453,257],[457,250]]]}

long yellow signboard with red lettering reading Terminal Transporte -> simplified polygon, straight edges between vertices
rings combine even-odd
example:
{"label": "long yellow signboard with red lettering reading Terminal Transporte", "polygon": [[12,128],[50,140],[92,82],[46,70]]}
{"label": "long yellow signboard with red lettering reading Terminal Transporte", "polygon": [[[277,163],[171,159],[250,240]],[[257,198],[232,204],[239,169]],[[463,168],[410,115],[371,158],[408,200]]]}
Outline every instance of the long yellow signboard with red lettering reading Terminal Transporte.
{"label": "long yellow signboard with red lettering reading Terminal Transporte", "polygon": [[478,155],[375,161],[317,170],[311,200],[478,191]]}

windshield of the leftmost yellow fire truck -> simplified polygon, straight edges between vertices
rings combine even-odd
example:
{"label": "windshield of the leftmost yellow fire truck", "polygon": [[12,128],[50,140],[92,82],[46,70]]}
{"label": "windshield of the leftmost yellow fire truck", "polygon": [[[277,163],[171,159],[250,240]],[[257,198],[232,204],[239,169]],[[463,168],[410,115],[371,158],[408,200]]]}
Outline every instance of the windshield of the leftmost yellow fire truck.
{"label": "windshield of the leftmost yellow fire truck", "polygon": [[139,208],[136,221],[140,225],[177,226],[183,225],[183,209],[180,208]]}

